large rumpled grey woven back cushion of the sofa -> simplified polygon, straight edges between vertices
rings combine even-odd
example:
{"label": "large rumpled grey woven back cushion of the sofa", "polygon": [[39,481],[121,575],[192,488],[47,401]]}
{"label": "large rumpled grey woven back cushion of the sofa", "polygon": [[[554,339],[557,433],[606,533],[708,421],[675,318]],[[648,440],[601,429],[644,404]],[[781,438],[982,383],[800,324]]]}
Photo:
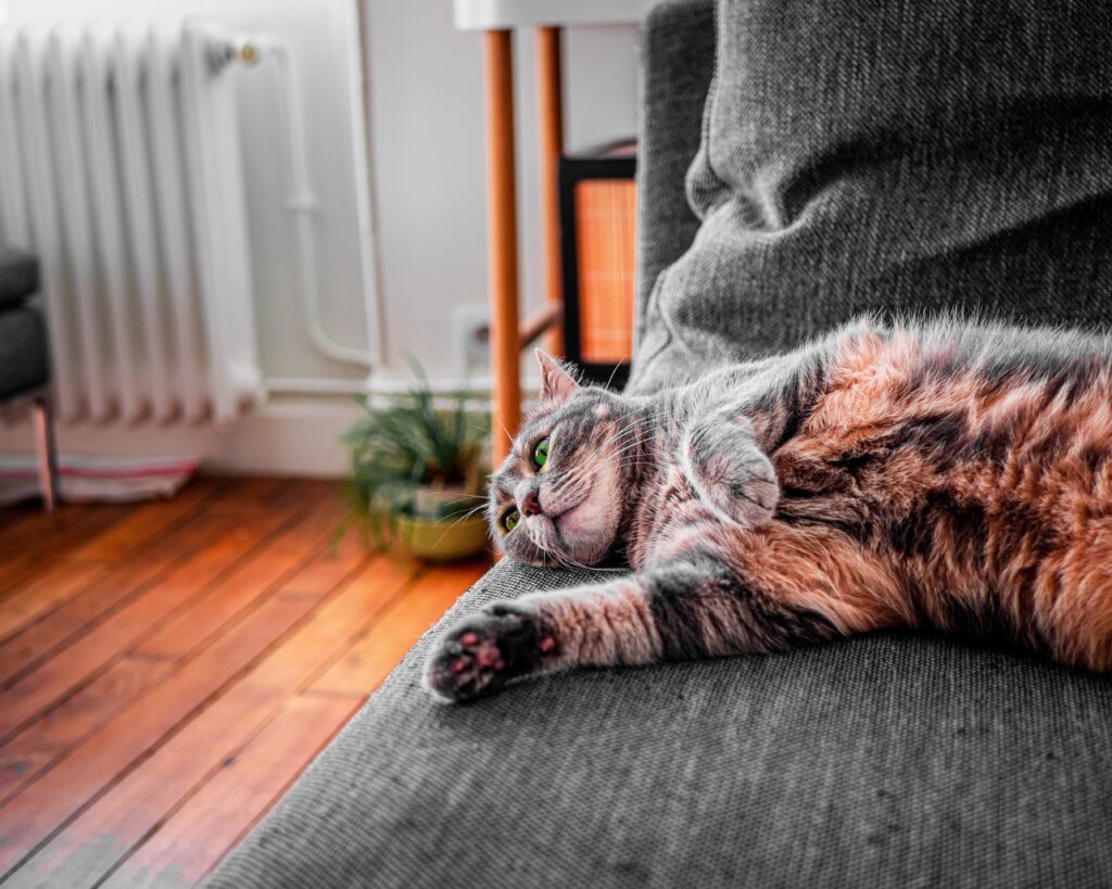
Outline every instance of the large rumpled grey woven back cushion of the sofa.
{"label": "large rumpled grey woven back cushion of the sofa", "polygon": [[863,311],[1112,320],[1112,4],[722,0],[632,387]]}

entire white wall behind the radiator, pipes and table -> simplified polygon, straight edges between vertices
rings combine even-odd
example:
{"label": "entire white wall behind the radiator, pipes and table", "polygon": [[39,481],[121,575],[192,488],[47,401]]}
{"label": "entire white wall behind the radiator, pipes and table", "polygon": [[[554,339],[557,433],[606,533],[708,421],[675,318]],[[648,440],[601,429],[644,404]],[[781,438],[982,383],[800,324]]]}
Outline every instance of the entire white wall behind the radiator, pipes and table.
{"label": "entire white wall behind the radiator, pipes and table", "polygon": [[[455,378],[453,309],[486,302],[481,38],[451,23],[447,0],[160,0],[159,14],[203,14],[234,29],[292,41],[312,133],[310,163],[321,199],[325,320],[336,339],[366,343],[361,302],[356,162],[342,122],[350,87],[345,22],[363,2],[368,84],[371,207],[377,228],[384,363],[396,384],[416,357],[435,378]],[[2,12],[6,0],[0,0]],[[10,0],[12,21],[149,19],[149,0]],[[533,36],[515,40],[522,296],[542,299]],[[260,69],[245,72],[244,133],[264,370],[307,380],[364,378],[319,356],[301,324],[281,207],[280,154],[272,132],[275,92]],[[260,77],[261,76],[261,77]],[[633,28],[573,31],[565,39],[565,129],[570,147],[635,131]],[[529,369],[532,371],[532,368]],[[189,453],[239,471],[300,475],[342,470],[335,437],[355,416],[346,399],[276,398],[230,429],[61,429],[63,451]],[[0,451],[27,449],[24,428],[0,429]]]}

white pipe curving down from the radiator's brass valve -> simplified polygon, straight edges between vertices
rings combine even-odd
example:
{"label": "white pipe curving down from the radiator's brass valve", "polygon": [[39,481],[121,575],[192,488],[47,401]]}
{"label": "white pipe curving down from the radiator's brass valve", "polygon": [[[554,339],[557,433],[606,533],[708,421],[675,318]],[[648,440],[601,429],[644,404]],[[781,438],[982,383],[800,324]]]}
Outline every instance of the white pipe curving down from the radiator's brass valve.
{"label": "white pipe curving down from the radiator's brass valve", "polygon": [[[309,339],[322,354],[335,361],[369,368],[374,363],[370,352],[336,342],[325,330],[320,318],[320,284],[317,276],[317,237],[314,219],[317,212],[317,199],[312,193],[309,178],[301,98],[297,89],[297,78],[294,76],[294,59],[289,47],[272,37],[237,39],[227,48],[224,60],[238,59],[244,64],[254,66],[265,58],[272,58],[276,62],[282,96],[280,108],[288,149],[286,172],[291,192],[286,199],[286,209],[294,214],[301,310]],[[221,60],[216,61],[219,63]],[[370,306],[365,306],[364,309],[368,313],[369,330],[370,313],[374,310]]]}

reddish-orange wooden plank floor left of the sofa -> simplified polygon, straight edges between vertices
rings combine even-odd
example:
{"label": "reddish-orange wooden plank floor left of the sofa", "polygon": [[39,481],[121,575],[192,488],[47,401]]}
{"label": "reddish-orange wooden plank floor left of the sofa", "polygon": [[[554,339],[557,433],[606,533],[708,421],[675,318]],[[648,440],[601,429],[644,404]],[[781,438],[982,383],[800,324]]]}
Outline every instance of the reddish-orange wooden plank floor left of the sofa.
{"label": "reddish-orange wooden plank floor left of the sofa", "polygon": [[191,886],[486,565],[329,547],[335,485],[0,510],[0,883]]}

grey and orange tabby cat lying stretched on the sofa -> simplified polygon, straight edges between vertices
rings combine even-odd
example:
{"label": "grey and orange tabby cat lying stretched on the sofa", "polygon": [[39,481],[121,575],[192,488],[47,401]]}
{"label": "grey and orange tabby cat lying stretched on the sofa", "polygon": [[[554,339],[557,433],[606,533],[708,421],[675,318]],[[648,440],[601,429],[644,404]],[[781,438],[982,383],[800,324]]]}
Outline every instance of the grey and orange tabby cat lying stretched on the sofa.
{"label": "grey and orange tabby cat lying stretched on the sofa", "polygon": [[1108,338],[863,319],[652,396],[538,360],[492,529],[510,559],[634,572],[461,619],[438,699],[890,628],[1112,668]]}

